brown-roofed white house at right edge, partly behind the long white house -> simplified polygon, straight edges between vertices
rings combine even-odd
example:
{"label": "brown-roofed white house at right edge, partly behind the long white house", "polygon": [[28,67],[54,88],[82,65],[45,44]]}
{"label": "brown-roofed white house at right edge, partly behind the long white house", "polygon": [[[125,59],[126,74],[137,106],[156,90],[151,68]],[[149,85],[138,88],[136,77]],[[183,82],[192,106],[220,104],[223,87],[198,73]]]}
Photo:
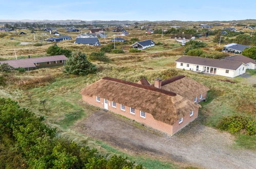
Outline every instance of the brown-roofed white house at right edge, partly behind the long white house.
{"label": "brown-roofed white house at right edge, partly behind the long white house", "polygon": [[246,69],[256,69],[256,61],[244,55],[233,55],[222,58],[223,60],[241,61],[247,65]]}

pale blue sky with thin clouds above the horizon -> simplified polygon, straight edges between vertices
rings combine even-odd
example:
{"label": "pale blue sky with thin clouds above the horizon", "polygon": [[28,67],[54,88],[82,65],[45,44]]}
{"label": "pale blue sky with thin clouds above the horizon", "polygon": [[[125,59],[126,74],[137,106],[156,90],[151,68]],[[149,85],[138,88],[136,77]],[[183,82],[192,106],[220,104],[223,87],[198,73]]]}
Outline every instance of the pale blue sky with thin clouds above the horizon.
{"label": "pale blue sky with thin clouds above the horizon", "polygon": [[256,1],[0,0],[0,19],[192,21],[256,19]]}

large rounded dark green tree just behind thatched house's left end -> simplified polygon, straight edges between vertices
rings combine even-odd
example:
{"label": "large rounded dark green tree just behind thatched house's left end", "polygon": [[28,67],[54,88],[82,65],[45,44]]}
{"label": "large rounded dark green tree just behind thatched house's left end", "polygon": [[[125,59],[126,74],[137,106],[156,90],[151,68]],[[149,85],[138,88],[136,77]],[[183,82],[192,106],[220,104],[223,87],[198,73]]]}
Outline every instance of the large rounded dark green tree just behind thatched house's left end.
{"label": "large rounded dark green tree just behind thatched house's left end", "polygon": [[85,53],[73,52],[64,67],[65,71],[75,75],[88,75],[96,72],[96,66],[86,57]]}

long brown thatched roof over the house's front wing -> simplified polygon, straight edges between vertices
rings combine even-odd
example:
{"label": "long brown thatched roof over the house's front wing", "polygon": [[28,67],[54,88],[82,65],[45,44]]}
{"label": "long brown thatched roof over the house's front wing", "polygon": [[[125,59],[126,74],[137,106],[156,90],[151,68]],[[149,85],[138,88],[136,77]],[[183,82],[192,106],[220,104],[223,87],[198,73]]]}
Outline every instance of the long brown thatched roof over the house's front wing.
{"label": "long brown thatched roof over the house's front wing", "polygon": [[100,96],[153,115],[156,120],[173,124],[199,108],[181,95],[152,86],[104,77],[81,91],[82,95]]}

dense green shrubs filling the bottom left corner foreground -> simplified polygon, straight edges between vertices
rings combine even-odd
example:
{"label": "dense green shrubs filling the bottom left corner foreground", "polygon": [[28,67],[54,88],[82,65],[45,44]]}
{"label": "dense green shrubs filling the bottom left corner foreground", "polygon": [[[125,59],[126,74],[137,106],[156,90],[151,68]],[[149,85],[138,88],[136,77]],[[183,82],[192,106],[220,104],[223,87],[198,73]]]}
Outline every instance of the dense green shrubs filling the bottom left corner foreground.
{"label": "dense green shrubs filling the bottom left corner foreground", "polygon": [[0,98],[1,168],[143,168],[126,157],[99,155],[61,137],[56,130],[11,99]]}

